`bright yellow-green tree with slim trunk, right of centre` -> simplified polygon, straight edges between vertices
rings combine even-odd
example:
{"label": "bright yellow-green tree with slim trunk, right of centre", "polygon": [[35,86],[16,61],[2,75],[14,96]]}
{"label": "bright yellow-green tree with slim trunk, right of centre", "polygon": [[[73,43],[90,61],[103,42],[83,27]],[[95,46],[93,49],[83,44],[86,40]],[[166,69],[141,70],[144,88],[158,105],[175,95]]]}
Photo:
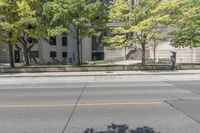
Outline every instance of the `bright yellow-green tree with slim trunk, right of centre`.
{"label": "bright yellow-green tree with slim trunk, right of centre", "polygon": [[[142,47],[142,65],[145,65],[146,46],[154,39],[156,34],[161,34],[155,28],[164,21],[168,15],[155,13],[160,6],[160,0],[139,0],[136,3],[125,0],[113,0],[110,6],[110,21],[117,21],[121,26],[112,27],[114,37],[106,37],[105,41],[111,47],[124,47],[139,44]],[[157,38],[159,39],[159,38]]]}

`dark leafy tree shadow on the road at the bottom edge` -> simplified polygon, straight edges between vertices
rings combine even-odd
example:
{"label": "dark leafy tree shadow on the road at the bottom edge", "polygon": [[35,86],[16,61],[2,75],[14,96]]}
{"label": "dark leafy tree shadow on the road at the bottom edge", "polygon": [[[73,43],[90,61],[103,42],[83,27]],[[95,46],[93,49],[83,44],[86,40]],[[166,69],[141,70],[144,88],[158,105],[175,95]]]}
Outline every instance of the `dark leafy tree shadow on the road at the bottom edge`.
{"label": "dark leafy tree shadow on the road at the bottom edge", "polygon": [[95,131],[93,128],[88,128],[84,133],[160,133],[154,131],[151,127],[139,127],[136,129],[129,129],[128,125],[111,124],[107,126],[107,131]]}

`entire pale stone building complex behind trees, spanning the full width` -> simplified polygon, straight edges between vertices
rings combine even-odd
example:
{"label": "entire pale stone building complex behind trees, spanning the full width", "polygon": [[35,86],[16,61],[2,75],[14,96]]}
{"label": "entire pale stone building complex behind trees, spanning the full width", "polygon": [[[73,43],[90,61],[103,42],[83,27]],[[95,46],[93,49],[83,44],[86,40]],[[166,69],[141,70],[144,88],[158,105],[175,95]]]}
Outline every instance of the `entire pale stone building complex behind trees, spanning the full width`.
{"label": "entire pale stone building complex behind trees, spanning the full width", "polygon": [[[106,0],[109,5],[110,0]],[[137,0],[132,0],[133,3]],[[119,23],[110,23],[107,26],[117,26]],[[169,28],[166,28],[169,30]],[[164,31],[168,33],[169,31]],[[156,58],[170,59],[171,51],[177,52],[178,63],[200,63],[200,48],[181,48],[177,49],[169,45],[169,41],[160,42],[156,50]],[[120,49],[110,49],[101,46],[101,37],[84,38],[81,48],[82,62],[94,60],[114,60],[116,58],[140,60],[141,48],[124,47]],[[39,40],[30,53],[32,64],[73,64],[77,62],[76,41],[70,35],[50,37],[49,41]],[[152,47],[148,47],[146,58],[153,58]],[[14,49],[14,60],[16,63],[23,62],[23,56],[20,51]],[[9,53],[7,45],[0,45],[0,63],[9,62]]]}

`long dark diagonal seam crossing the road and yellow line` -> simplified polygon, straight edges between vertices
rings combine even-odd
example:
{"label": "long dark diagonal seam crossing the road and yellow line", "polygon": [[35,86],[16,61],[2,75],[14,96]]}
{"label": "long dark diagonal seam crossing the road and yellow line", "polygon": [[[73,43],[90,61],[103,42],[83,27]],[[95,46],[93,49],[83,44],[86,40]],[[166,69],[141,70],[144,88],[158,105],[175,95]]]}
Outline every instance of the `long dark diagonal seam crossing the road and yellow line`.
{"label": "long dark diagonal seam crossing the road and yellow line", "polygon": [[74,114],[74,112],[75,112],[75,110],[77,108],[77,105],[78,105],[78,103],[79,103],[79,101],[80,101],[80,99],[81,99],[81,97],[83,95],[83,92],[85,91],[86,86],[87,86],[87,82],[85,83],[84,87],[81,90],[81,93],[80,93],[80,95],[79,95],[79,97],[78,97],[78,99],[77,99],[77,101],[75,103],[75,106],[74,106],[74,108],[73,108],[73,110],[72,110],[72,112],[71,112],[71,114],[70,114],[70,116],[69,116],[69,118],[68,118],[68,120],[67,120],[67,122],[66,122],[66,124],[65,124],[65,126],[63,128],[63,130],[62,130],[62,133],[65,133],[65,130],[67,129],[67,127],[69,125],[69,122],[70,122],[70,120],[71,120],[71,118],[72,118],[72,116],[73,116],[73,114]]}

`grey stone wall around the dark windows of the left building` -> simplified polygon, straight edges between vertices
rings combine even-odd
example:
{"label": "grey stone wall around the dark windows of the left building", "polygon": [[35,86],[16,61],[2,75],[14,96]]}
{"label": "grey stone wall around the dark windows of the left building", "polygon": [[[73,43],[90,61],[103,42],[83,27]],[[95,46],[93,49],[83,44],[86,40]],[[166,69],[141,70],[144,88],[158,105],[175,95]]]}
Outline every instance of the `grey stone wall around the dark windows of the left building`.
{"label": "grey stone wall around the dark windows of the left building", "polygon": [[[92,54],[92,44],[91,38],[84,38],[82,43],[82,59],[83,62],[91,61]],[[17,50],[14,47],[14,51]],[[53,59],[50,57],[50,52],[56,52],[56,57],[54,60],[58,62],[68,62],[70,63],[77,62],[77,49],[76,41],[70,35],[67,36],[67,46],[62,45],[62,36],[56,37],[56,45],[50,45],[47,40],[39,40],[37,44],[31,49],[31,51],[38,51],[37,63],[39,64],[49,64],[53,62]],[[63,52],[67,52],[67,58],[63,58]],[[23,54],[20,53],[20,62],[23,62]],[[0,63],[9,63],[9,51],[7,45],[0,45]],[[35,63],[31,59],[31,63]]]}

